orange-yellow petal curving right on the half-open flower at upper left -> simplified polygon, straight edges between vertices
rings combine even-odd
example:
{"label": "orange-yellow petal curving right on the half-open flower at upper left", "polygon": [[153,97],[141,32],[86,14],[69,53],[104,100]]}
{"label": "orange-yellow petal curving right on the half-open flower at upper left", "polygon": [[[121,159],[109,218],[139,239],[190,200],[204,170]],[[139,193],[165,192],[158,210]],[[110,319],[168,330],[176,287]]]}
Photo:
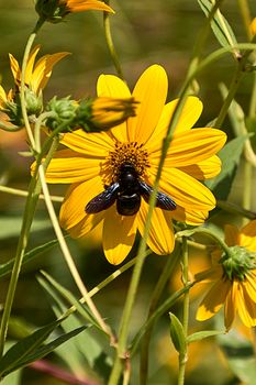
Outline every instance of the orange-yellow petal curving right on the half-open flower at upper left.
{"label": "orange-yellow petal curving right on the half-open flower at upper left", "polygon": [[45,55],[36,62],[32,78],[30,79],[30,85],[35,94],[45,88],[52,75],[53,67],[67,55],[69,55],[68,52],[60,52],[53,55]]}

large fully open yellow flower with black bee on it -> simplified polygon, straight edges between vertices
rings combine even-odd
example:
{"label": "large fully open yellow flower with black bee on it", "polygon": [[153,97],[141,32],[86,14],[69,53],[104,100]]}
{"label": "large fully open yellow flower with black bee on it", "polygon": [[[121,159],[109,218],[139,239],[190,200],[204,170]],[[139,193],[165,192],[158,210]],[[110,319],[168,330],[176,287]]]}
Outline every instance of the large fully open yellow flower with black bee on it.
{"label": "large fully open yellow flower with black bee on it", "polygon": [[[165,105],[167,88],[164,68],[159,65],[147,68],[132,92],[134,100],[140,102],[136,117],[129,118],[108,132],[86,133],[77,130],[65,134],[62,143],[68,150],[56,154],[46,173],[49,183],[71,184],[60,209],[62,227],[71,237],[80,238],[103,221],[103,250],[112,264],[121,263],[129,254],[137,230],[142,237],[144,233],[148,210],[145,188],[151,190],[154,185],[163,139],[177,105],[177,100]],[[101,75],[98,96],[130,98],[131,92],[116,76]],[[212,193],[197,179],[219,174],[221,162],[215,153],[224,145],[226,135],[211,128],[191,130],[201,111],[201,101],[189,97],[168,150],[159,191],[162,197],[163,194],[168,196],[167,199],[164,197],[172,211],[163,209],[159,200],[159,207],[154,209],[147,244],[156,254],[169,254],[174,250],[172,219],[197,226],[205,220],[209,210],[215,206]],[[141,202],[141,190],[137,190],[141,186],[136,186],[133,197],[131,195],[134,191],[120,191],[118,188],[112,200],[105,197],[109,202],[104,202],[108,206],[105,210],[90,213],[97,204],[93,208],[89,205],[89,210],[88,202],[104,191],[105,186],[114,184],[116,187],[116,183],[121,184],[121,174],[126,165],[130,166],[130,177],[131,173],[133,177],[135,173],[137,180],[144,183]],[[145,187],[145,184],[148,186]],[[125,194],[131,199],[126,199]],[[98,200],[103,205],[101,198]],[[123,209],[127,209],[127,212],[122,213],[125,211]]]}

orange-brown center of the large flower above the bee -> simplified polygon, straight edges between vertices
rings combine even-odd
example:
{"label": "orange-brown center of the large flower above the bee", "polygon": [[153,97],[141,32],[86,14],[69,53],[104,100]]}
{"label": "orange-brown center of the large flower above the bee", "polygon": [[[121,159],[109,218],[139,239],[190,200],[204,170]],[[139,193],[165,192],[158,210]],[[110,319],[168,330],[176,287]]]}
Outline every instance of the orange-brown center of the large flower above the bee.
{"label": "orange-brown center of the large flower above the bee", "polygon": [[145,176],[149,162],[147,151],[143,144],[137,142],[115,142],[114,147],[102,164],[102,178],[105,185],[118,180],[121,166],[124,164],[132,165],[138,177]]}

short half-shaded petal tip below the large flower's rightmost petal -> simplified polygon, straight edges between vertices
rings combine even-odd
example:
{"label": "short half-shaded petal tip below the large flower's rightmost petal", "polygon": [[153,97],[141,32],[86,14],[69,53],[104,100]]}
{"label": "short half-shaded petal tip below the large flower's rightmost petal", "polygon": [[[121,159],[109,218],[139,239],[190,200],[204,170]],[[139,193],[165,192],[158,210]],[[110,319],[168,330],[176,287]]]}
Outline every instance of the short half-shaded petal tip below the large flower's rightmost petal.
{"label": "short half-shaded petal tip below the large flower's rightmost petal", "polygon": [[178,168],[181,169],[181,172],[189,174],[196,179],[210,179],[220,174],[221,160],[216,155],[213,155],[205,161]]}

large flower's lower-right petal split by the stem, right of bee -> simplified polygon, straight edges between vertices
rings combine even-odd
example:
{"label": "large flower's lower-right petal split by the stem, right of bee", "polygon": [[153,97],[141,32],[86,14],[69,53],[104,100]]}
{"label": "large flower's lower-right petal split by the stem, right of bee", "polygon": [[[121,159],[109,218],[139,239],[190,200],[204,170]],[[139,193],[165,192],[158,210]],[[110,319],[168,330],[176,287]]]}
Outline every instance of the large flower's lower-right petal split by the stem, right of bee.
{"label": "large flower's lower-right petal split by the stem, right of bee", "polygon": [[[148,205],[142,200],[137,215],[137,227],[142,237],[148,211]],[[155,208],[151,219],[151,230],[147,239],[149,249],[160,255],[170,254],[175,246],[171,215],[168,211]]]}

